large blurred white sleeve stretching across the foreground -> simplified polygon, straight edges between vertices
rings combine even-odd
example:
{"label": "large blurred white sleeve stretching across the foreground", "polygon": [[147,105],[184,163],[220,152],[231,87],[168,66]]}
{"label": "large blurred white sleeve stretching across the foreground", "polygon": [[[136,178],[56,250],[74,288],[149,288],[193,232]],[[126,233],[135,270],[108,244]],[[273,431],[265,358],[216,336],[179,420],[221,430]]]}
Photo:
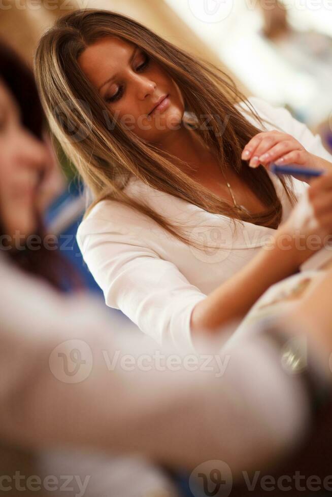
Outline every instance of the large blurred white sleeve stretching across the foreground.
{"label": "large blurred white sleeve stretching across the foreground", "polygon": [[140,453],[175,468],[222,459],[236,474],[306,433],[306,390],[267,337],[175,353],[114,330],[87,296],[55,294],[14,268],[0,274],[3,440]]}

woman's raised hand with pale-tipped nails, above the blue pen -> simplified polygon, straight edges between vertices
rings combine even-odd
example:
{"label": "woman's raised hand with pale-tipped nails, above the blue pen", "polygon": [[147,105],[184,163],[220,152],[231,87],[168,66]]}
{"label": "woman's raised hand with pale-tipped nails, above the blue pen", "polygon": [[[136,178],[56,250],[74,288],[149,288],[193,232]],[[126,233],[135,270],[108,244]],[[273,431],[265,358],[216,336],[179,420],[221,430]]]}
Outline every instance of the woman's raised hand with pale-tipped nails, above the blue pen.
{"label": "woman's raised hand with pale-tipped nails, above the blue pen", "polygon": [[[332,165],[309,153],[292,135],[277,130],[256,134],[245,146],[241,157],[242,160],[249,160],[250,167],[262,164],[269,168],[269,164],[273,162],[277,165],[296,164],[304,169],[327,170]],[[305,176],[298,179],[309,183]]]}

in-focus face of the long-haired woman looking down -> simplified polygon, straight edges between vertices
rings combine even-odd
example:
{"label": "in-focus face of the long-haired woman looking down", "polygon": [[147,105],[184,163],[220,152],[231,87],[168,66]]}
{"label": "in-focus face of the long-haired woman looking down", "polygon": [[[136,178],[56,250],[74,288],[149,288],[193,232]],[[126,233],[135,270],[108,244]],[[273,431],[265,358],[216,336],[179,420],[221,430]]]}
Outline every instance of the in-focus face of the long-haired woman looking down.
{"label": "in-focus face of the long-haired woman looking down", "polygon": [[[136,45],[115,37],[103,38],[86,48],[78,62],[116,120],[137,136],[149,143],[162,143],[178,129],[184,113],[179,87]],[[164,108],[150,115],[164,95],[168,95]]]}

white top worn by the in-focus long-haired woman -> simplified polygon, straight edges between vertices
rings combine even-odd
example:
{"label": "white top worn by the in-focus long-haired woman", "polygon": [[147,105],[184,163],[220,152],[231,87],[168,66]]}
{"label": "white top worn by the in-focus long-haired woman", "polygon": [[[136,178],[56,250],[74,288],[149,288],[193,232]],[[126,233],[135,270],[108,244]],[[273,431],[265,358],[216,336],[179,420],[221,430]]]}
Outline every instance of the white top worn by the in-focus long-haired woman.
{"label": "white top worn by the in-focus long-haired woman", "polygon": [[[286,109],[274,108],[258,97],[250,97],[249,101],[262,119],[272,122],[273,125],[265,124],[265,130],[278,127],[294,136],[309,152],[332,162],[320,136],[313,135]],[[245,109],[243,103],[239,109]],[[244,115],[259,125],[254,118]],[[279,178],[270,171],[269,174],[285,221],[291,205]],[[307,186],[293,179],[297,197]],[[275,230],[244,222],[244,227],[239,225],[234,233],[227,216],[211,214],[136,178],[129,182],[126,192],[143,197],[154,210],[186,226],[194,240],[201,242],[203,238],[206,250],[180,242],[134,209],[103,200],[78,228],[77,241],[83,258],[108,306],[120,309],[159,343],[191,343],[190,316],[194,306],[247,264]]]}

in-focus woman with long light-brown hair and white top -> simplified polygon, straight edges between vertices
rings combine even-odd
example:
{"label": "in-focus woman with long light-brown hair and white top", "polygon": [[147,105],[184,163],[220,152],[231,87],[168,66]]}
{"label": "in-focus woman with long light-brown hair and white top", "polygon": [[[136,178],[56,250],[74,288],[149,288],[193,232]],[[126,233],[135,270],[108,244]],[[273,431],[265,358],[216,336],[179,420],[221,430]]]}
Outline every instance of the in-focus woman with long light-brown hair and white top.
{"label": "in-focus woman with long light-brown hair and white top", "polygon": [[330,173],[293,209],[308,185],[264,167],[328,169],[319,136],[135,20],[64,16],[35,64],[51,128],[94,196],[83,257],[107,305],[159,342],[191,344],[243,315],[310,257],[309,235],[321,246],[332,232]]}

